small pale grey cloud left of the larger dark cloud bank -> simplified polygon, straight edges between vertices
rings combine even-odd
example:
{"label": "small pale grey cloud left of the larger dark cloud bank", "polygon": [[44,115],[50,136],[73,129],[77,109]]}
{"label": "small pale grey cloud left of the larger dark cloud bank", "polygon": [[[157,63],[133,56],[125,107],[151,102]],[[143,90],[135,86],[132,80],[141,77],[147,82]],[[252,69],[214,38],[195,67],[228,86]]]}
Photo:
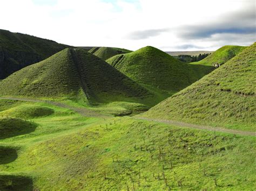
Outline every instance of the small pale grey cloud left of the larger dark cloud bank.
{"label": "small pale grey cloud left of the larger dark cloud bank", "polygon": [[169,32],[170,29],[149,29],[142,31],[133,31],[127,35],[127,38],[132,40],[148,39],[150,37],[157,37],[163,32]]}

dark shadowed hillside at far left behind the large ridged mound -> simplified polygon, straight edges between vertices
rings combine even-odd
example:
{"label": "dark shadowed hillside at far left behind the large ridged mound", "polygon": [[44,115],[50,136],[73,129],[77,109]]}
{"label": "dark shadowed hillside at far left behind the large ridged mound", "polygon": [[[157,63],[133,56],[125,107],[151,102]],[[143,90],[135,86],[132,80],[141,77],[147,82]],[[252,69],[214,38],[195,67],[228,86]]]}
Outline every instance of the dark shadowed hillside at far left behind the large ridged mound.
{"label": "dark shadowed hillside at far left behind the large ridged mound", "polygon": [[62,51],[68,45],[0,30],[0,79]]}

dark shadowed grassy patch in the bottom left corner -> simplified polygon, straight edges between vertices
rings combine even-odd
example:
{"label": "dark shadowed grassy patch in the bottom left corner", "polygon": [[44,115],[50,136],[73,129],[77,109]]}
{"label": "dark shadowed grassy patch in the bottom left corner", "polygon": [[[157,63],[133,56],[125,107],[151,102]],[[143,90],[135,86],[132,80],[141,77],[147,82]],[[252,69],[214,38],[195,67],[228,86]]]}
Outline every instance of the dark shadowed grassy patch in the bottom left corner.
{"label": "dark shadowed grassy patch in the bottom left corner", "polygon": [[32,180],[24,175],[0,174],[0,190],[33,190]]}

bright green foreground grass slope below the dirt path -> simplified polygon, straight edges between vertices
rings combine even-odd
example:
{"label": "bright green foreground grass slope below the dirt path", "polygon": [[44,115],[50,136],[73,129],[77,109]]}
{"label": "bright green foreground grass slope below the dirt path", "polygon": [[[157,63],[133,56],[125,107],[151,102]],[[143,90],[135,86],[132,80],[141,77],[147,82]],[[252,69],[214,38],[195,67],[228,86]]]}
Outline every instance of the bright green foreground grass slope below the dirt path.
{"label": "bright green foreground grass slope below the dirt path", "polygon": [[[0,106],[13,107],[6,102]],[[35,106],[55,112],[33,118],[39,124],[34,132],[0,141],[0,152],[16,149],[9,158],[0,158],[1,190],[7,185],[29,189],[31,181],[34,189],[42,190],[255,187],[254,137],[128,117],[99,121],[47,104]]]}

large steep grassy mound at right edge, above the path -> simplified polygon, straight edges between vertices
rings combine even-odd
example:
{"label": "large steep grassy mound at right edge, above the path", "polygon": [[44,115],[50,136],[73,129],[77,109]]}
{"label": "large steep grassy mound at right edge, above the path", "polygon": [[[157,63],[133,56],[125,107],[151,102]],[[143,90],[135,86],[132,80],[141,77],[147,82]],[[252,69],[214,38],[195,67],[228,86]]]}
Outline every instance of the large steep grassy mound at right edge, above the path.
{"label": "large steep grassy mound at right edge, above the path", "polygon": [[256,43],[142,116],[256,130]]}

